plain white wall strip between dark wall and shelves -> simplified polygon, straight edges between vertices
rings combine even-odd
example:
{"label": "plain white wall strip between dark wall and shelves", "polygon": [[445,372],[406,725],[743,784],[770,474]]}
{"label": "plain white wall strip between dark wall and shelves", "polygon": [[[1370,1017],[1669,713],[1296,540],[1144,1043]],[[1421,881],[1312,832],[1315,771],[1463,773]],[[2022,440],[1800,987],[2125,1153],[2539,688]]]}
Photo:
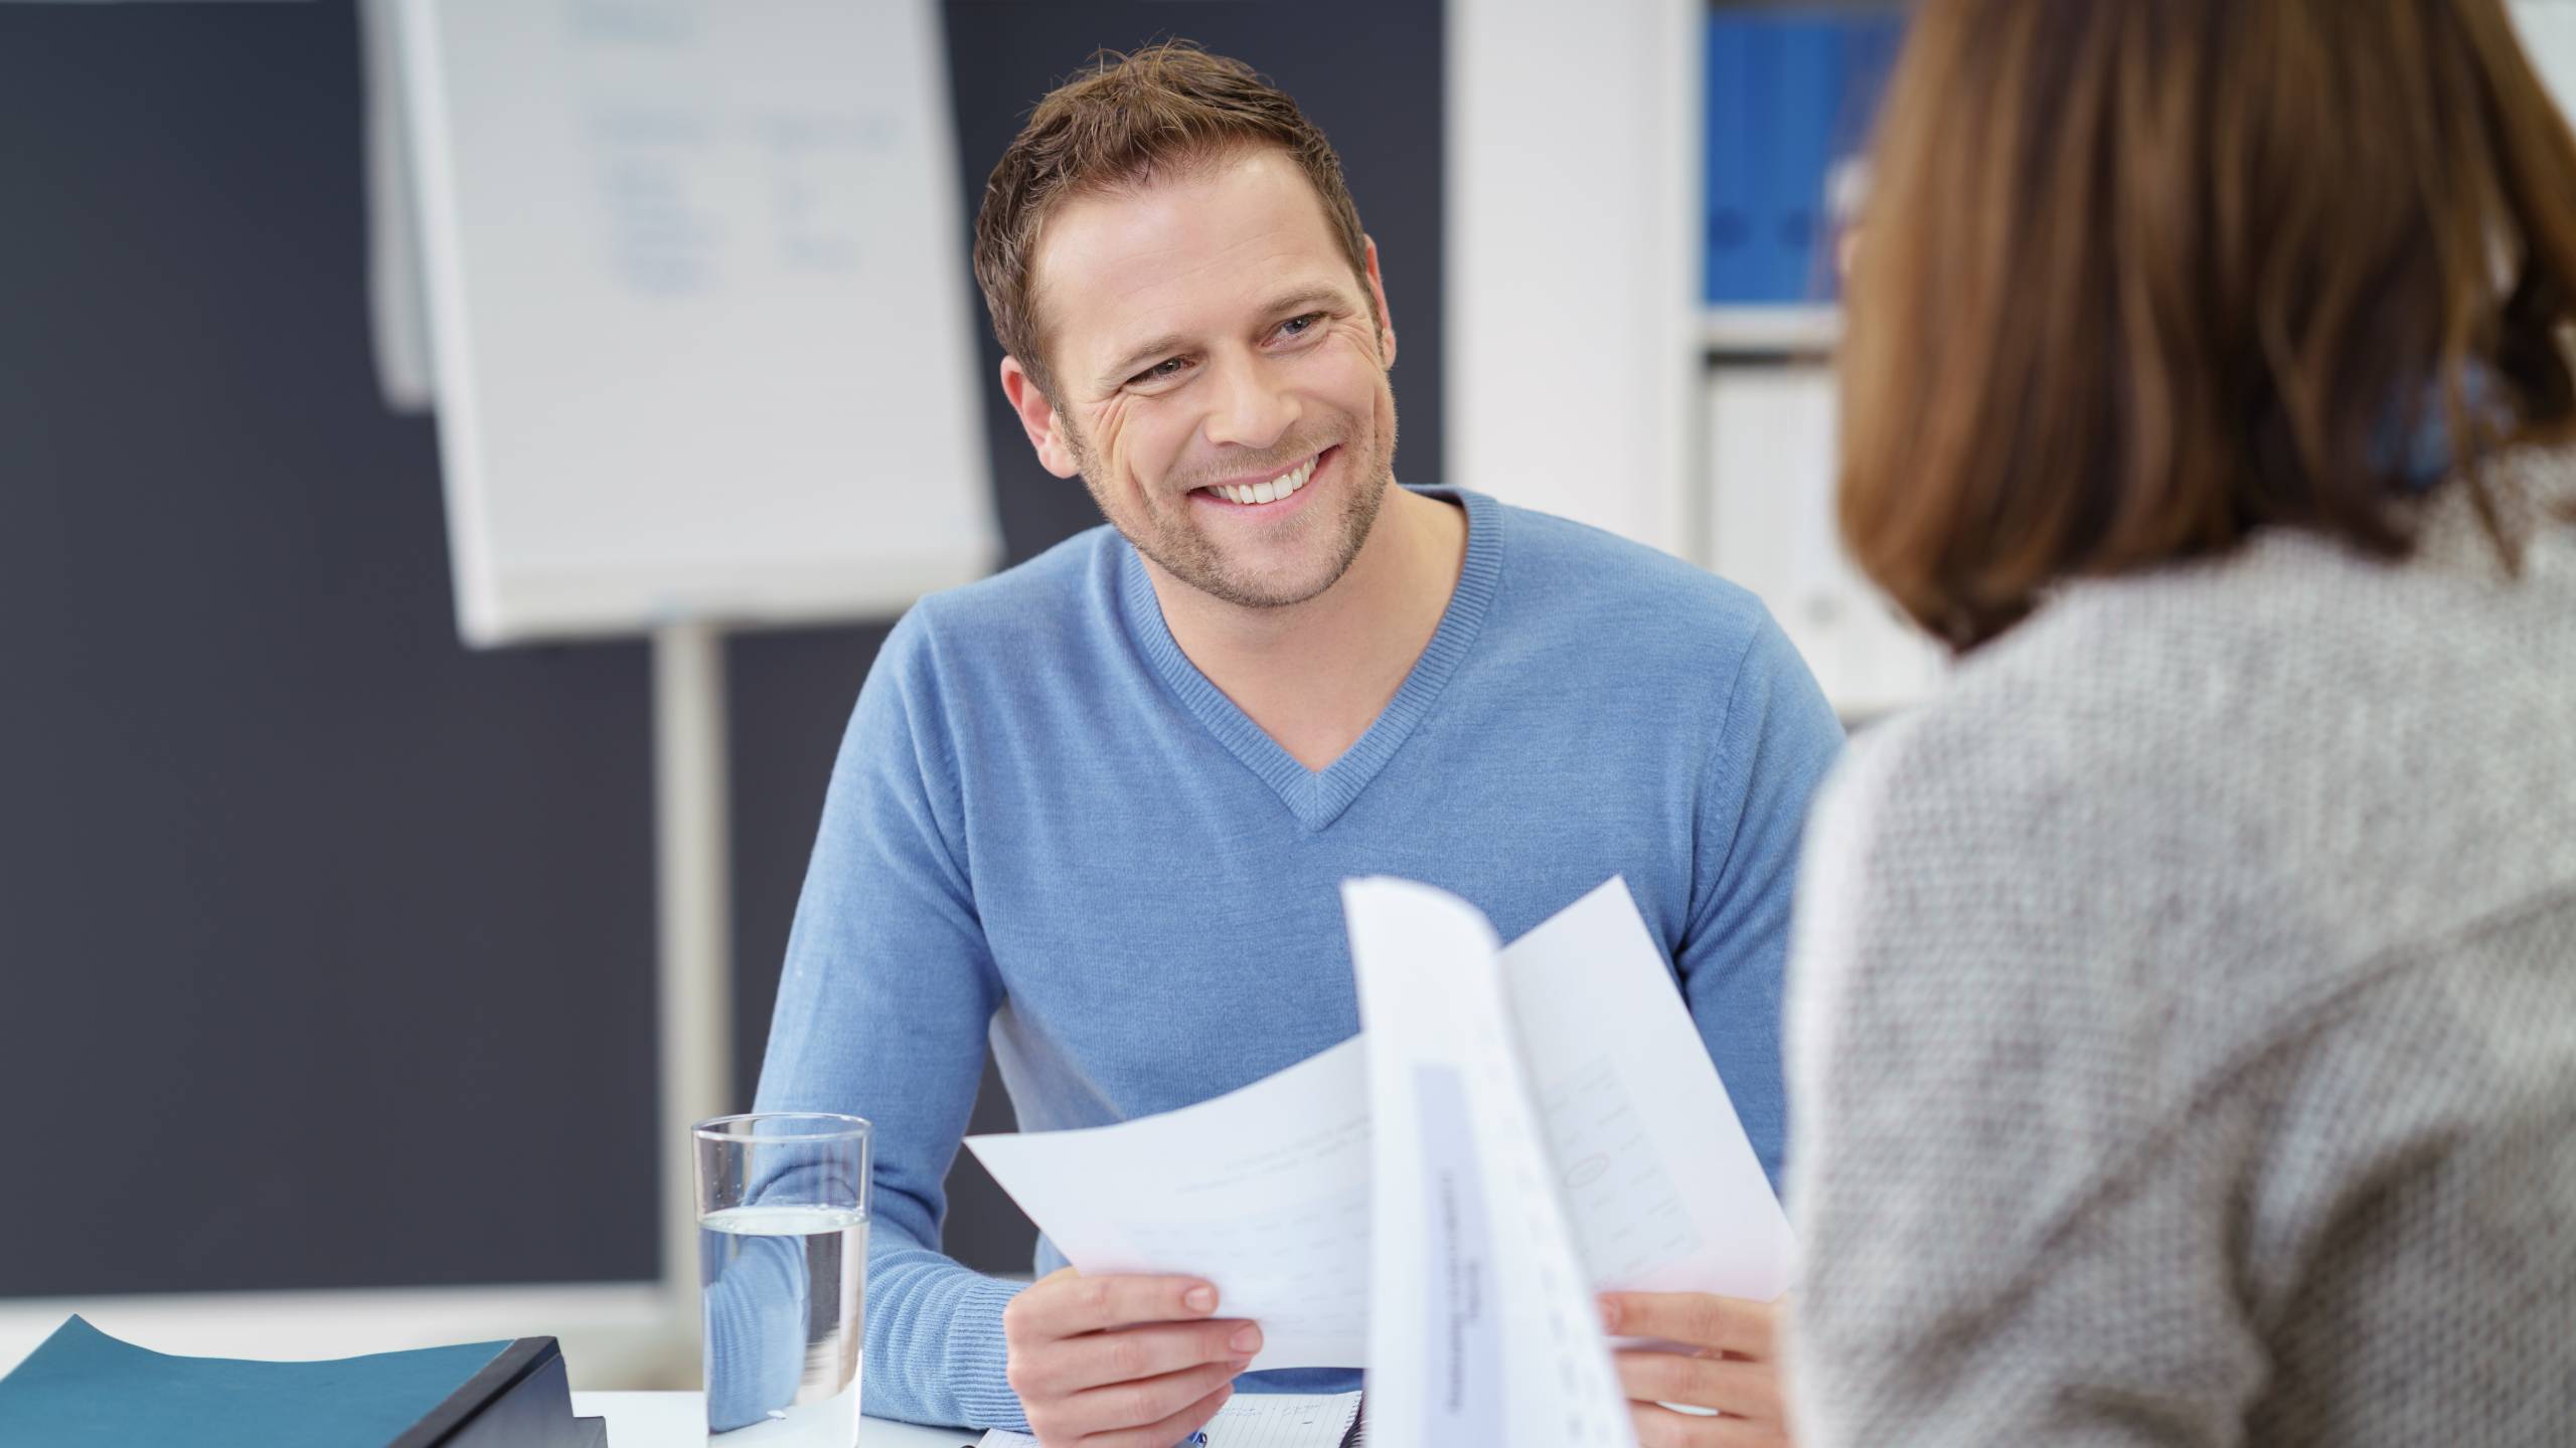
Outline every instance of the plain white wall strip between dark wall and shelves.
{"label": "plain white wall strip between dark wall and shelves", "polygon": [[1705,0],[1450,0],[1455,482],[1695,546]]}

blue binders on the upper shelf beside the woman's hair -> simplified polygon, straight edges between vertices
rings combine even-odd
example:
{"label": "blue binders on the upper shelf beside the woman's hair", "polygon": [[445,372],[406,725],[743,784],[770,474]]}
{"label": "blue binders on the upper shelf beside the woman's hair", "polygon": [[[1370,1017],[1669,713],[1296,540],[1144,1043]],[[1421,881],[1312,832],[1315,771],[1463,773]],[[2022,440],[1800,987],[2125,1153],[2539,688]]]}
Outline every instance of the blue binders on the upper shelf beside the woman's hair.
{"label": "blue binders on the upper shelf beside the woman's hair", "polygon": [[1868,144],[1901,36],[1878,10],[1710,10],[1710,304],[1834,299],[1834,167]]}

